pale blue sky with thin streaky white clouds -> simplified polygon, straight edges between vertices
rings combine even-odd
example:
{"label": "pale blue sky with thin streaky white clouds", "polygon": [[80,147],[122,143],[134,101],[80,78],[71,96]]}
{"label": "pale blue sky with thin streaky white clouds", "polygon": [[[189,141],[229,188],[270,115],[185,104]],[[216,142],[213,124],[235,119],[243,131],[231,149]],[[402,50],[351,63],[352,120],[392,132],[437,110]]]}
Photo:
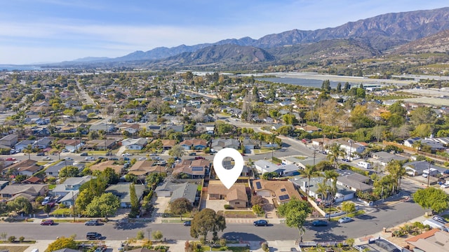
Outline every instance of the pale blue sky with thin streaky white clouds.
{"label": "pale blue sky with thin streaky white clouds", "polygon": [[447,0],[13,0],[0,8],[0,64],[120,57],[136,50],[337,27]]}

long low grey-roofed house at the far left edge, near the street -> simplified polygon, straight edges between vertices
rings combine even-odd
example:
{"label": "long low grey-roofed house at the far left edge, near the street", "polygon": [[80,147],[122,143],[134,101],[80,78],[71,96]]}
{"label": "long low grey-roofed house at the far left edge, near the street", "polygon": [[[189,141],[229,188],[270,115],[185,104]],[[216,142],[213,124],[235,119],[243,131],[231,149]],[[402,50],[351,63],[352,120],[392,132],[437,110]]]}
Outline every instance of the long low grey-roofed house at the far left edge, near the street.
{"label": "long low grey-roofed house at the far left edge, near the street", "polygon": [[30,202],[36,197],[43,196],[48,193],[47,184],[22,184],[15,183],[8,185],[0,190],[0,197],[3,200],[14,200],[16,197],[26,197]]}

